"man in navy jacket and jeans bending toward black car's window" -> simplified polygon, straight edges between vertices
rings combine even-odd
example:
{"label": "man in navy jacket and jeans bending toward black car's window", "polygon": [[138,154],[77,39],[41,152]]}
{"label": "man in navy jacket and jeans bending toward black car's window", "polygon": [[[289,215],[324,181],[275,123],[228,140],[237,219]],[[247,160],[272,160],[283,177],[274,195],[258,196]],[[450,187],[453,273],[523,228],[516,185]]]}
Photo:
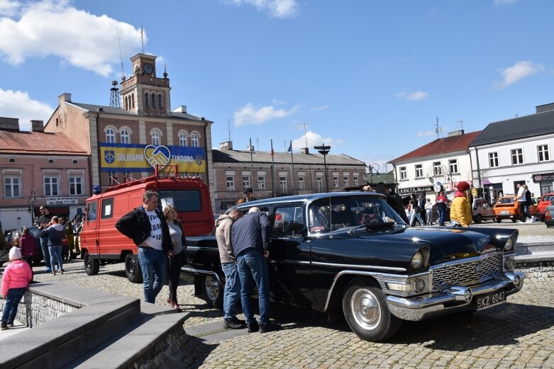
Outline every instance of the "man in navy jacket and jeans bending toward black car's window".
{"label": "man in navy jacket and jeans bending toward black car's window", "polygon": [[[247,215],[236,220],[231,228],[231,243],[237,258],[240,279],[240,301],[248,324],[248,332],[278,331],[279,324],[270,322],[270,276],[264,258],[270,256],[270,220],[258,208],[251,208]],[[252,309],[252,280],[257,285],[260,324]]]}

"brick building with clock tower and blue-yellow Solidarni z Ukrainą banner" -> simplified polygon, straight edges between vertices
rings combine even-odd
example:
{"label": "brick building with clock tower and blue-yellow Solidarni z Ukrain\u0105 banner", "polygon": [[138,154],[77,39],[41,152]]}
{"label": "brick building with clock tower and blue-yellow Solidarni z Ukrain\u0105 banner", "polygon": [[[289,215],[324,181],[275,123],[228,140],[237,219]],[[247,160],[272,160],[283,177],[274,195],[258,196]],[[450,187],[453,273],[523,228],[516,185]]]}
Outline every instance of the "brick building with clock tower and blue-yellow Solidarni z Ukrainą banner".
{"label": "brick building with clock tower and blue-yellow Solidarni z Ukrain\u0105 banner", "polygon": [[103,191],[152,175],[155,164],[176,164],[180,175],[201,177],[213,194],[213,122],[187,113],[187,106],[171,108],[170,79],[166,71],[157,76],[155,62],[155,55],[131,57],[133,73],[121,77],[121,107],[77,103],[62,93],[45,132],[64,132],[89,153],[91,188]]}

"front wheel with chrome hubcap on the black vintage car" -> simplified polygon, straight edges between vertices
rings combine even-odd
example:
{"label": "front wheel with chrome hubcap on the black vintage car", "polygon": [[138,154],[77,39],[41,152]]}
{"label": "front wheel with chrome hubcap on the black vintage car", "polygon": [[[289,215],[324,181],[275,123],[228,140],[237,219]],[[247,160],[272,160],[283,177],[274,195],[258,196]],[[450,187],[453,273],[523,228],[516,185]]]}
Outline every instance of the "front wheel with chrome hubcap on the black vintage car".
{"label": "front wheel with chrome hubcap on the black vintage car", "polygon": [[387,307],[381,288],[365,278],[355,278],[346,287],[343,312],[350,329],[366,341],[389,339],[401,324]]}

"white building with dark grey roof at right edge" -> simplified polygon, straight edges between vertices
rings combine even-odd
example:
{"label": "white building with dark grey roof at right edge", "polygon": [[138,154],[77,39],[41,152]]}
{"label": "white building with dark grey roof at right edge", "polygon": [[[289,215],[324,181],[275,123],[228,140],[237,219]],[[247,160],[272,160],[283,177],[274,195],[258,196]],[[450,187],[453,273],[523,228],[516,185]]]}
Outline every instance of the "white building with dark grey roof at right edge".
{"label": "white building with dark grey roof at right edge", "polygon": [[474,186],[487,198],[517,193],[526,184],[536,196],[554,190],[554,103],[536,113],[490,123],[470,144]]}

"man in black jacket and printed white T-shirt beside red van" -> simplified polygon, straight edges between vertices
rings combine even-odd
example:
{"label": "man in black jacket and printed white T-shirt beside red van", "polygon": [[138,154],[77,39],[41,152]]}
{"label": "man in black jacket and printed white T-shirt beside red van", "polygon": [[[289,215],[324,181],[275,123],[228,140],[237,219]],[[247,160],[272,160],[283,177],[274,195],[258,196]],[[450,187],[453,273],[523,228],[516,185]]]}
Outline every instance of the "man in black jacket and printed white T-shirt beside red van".
{"label": "man in black jacket and printed white T-shirt beside red van", "polygon": [[167,277],[167,256],[172,254],[170,228],[158,208],[158,195],[148,190],[143,205],[123,215],[117,223],[119,232],[133,239],[138,248],[138,263],[143,272],[145,302],[154,303]]}

